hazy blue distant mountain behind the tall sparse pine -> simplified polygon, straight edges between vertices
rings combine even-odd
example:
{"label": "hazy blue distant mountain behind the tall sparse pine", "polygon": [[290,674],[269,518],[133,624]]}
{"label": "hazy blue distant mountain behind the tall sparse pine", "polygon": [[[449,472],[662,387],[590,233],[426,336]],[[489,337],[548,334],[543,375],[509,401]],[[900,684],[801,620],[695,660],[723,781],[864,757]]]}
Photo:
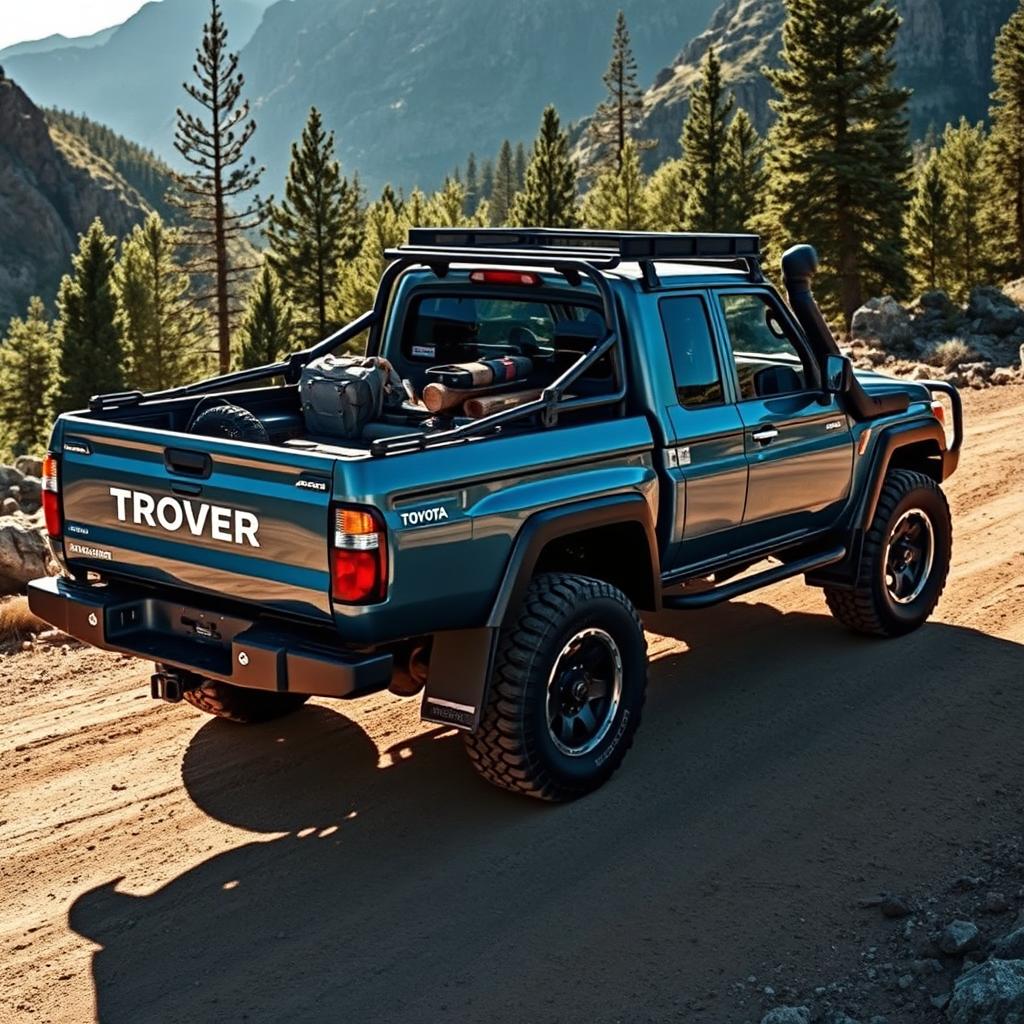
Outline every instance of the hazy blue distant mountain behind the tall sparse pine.
{"label": "hazy blue distant mountain behind the tall sparse pine", "polygon": [[[589,114],[620,7],[649,81],[719,2],[292,0],[267,9],[258,28],[253,0],[222,7],[230,45],[243,47],[253,153],[267,166],[266,190],[280,191],[312,103],[338,133],[346,168],[372,189],[433,187],[471,150],[492,155],[505,137],[531,139],[545,103],[567,120]],[[82,111],[173,161],[174,110],[208,9],[209,0],[150,4],[102,46],[4,65],[37,102]]]}

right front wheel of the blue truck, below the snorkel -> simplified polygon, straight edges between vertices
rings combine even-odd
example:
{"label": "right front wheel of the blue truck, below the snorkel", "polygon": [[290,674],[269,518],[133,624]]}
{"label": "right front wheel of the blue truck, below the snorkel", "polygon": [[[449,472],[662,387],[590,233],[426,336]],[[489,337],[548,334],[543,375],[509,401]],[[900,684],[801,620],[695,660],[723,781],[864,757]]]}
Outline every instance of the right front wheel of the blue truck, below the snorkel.
{"label": "right front wheel of the blue truck, below the snorkel", "polygon": [[909,633],[935,610],[951,553],[952,524],[942,488],[924,473],[892,470],[864,536],[857,584],[853,590],[826,587],[828,610],[858,633]]}

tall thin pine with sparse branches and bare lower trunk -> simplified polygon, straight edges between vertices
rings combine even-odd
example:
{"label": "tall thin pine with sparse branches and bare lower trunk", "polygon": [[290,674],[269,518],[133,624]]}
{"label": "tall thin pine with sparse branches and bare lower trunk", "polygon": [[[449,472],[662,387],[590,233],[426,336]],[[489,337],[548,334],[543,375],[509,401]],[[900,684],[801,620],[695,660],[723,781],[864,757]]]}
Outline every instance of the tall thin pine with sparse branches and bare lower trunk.
{"label": "tall thin pine with sparse branches and bare lower trunk", "polygon": [[[263,173],[246,146],[256,130],[249,117],[249,101],[242,98],[245,79],[239,55],[227,51],[227,27],[218,0],[210,0],[210,20],[203,27],[203,43],[193,71],[196,82],[183,84],[202,109],[199,114],[177,112],[174,147],[191,165],[187,174],[175,174],[180,204],[191,221],[185,239],[194,248],[189,263],[194,273],[213,278],[220,372],[231,362],[232,287],[252,269],[232,257],[236,240],[258,227],[265,211],[259,199],[243,199],[259,183]],[[232,204],[241,203],[241,209]]]}

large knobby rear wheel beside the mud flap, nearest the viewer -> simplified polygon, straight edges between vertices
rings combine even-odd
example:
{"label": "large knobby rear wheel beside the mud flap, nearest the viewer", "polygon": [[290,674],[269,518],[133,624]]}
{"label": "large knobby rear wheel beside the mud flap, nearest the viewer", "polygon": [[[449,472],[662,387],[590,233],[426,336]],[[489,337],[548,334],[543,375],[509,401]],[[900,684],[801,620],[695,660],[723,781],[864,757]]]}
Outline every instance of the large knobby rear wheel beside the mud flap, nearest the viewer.
{"label": "large knobby rear wheel beside the mud flap, nearest the viewer", "polygon": [[539,575],[503,630],[466,752],[495,785],[573,800],[622,763],[646,686],[647,643],[626,595],[586,577]]}

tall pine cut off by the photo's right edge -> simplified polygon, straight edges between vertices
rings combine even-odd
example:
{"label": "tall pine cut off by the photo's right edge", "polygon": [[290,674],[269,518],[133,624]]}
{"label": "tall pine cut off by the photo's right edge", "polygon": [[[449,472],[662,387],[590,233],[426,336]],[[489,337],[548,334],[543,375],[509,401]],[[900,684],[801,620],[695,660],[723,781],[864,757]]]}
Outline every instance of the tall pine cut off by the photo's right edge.
{"label": "tall pine cut off by the photo's right edge", "polygon": [[989,163],[989,237],[999,269],[1024,273],[1024,4],[995,40]]}

